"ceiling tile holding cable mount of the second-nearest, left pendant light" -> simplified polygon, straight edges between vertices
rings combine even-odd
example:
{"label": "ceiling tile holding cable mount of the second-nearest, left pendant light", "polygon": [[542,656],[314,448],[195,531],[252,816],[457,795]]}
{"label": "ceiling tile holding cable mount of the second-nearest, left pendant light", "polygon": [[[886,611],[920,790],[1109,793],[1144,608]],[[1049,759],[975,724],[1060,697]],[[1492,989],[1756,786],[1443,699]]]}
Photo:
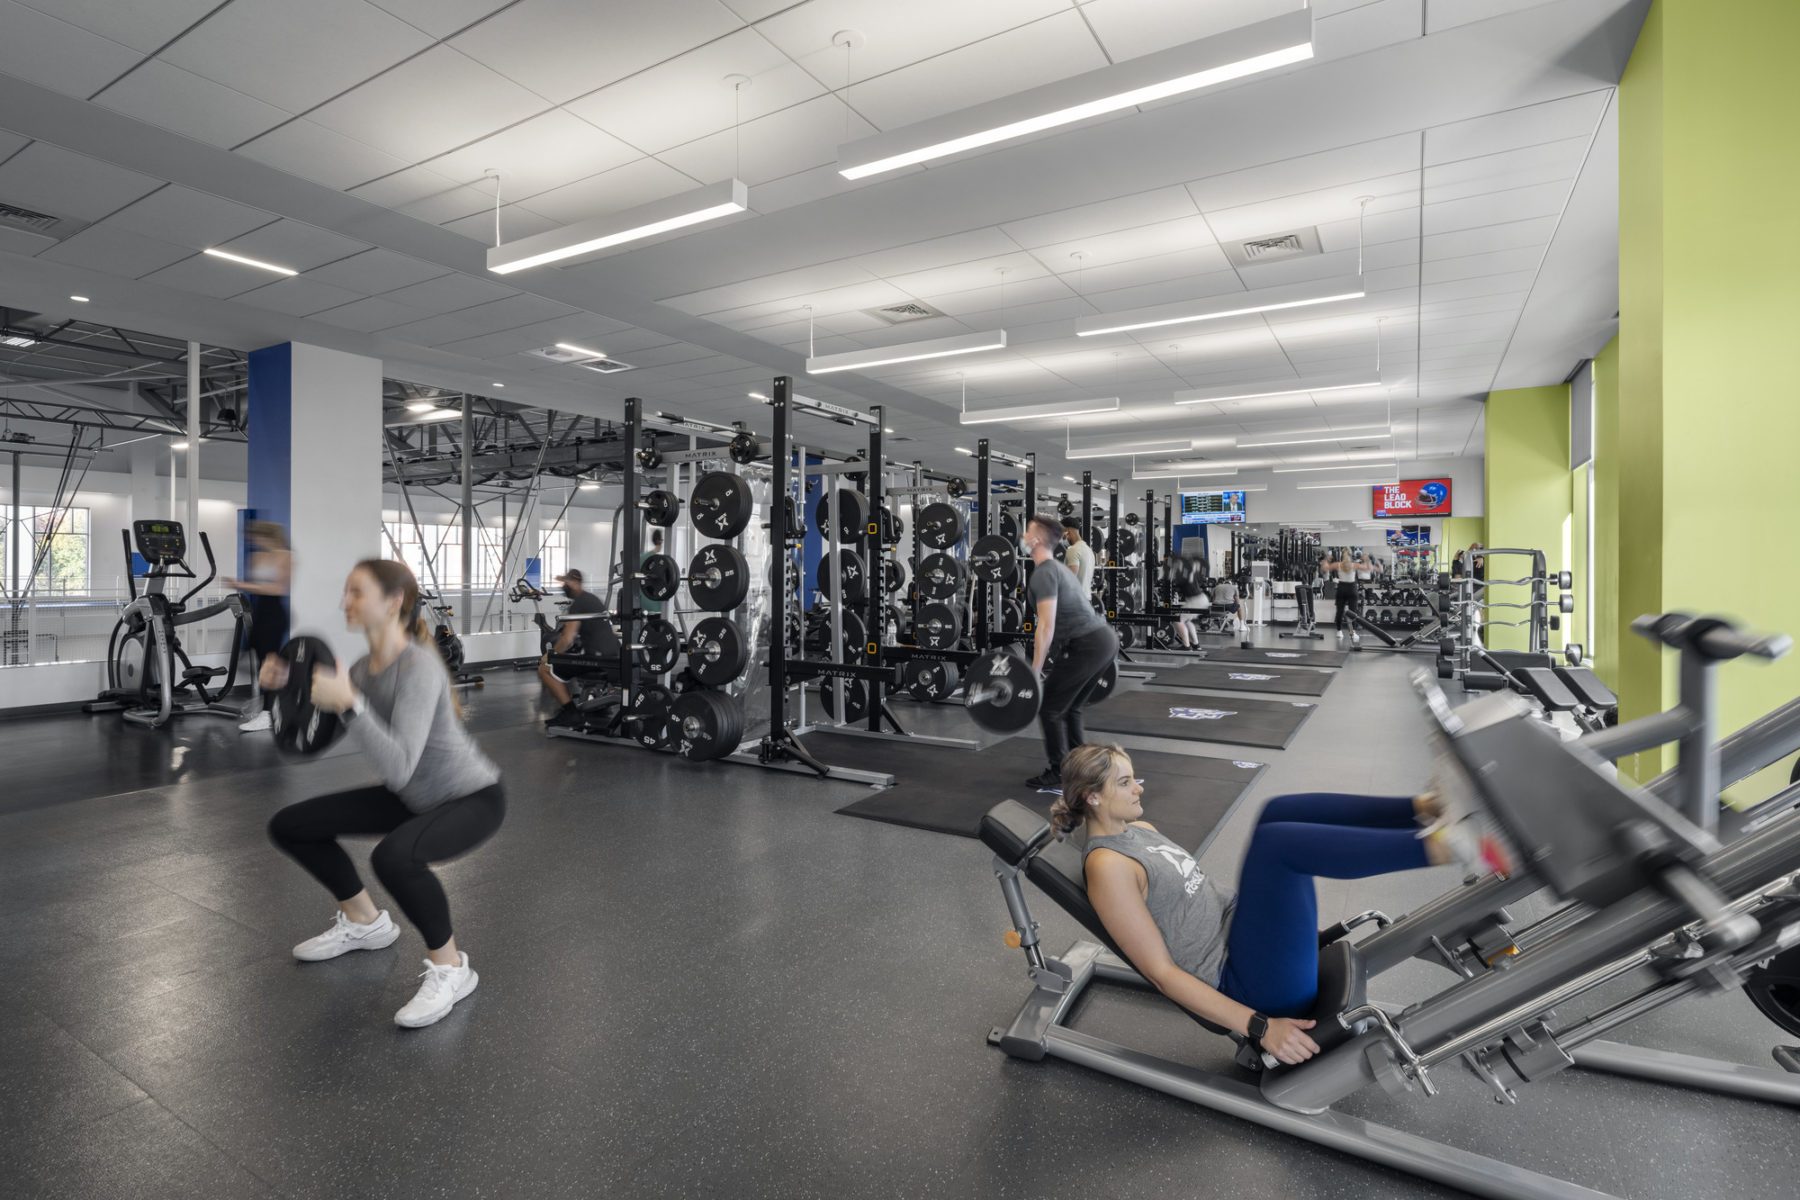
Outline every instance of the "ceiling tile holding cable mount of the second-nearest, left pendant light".
{"label": "ceiling tile holding cable mount of the second-nearest, left pendant light", "polygon": [[[749,76],[751,83],[736,92],[724,83],[725,76]],[[756,31],[742,29],[571,101],[567,108],[653,155],[823,92],[824,85]]]}

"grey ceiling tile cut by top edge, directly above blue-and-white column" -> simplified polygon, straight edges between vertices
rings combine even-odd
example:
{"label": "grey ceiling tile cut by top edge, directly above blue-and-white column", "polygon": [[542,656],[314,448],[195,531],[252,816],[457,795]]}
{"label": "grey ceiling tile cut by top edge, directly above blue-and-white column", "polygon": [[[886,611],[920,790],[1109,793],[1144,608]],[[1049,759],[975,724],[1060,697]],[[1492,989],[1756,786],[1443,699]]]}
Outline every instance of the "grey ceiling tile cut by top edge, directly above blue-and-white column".
{"label": "grey ceiling tile cut by top edge, directly above blue-and-white column", "polygon": [[364,0],[232,0],[162,58],[277,108],[306,112],[430,43]]}

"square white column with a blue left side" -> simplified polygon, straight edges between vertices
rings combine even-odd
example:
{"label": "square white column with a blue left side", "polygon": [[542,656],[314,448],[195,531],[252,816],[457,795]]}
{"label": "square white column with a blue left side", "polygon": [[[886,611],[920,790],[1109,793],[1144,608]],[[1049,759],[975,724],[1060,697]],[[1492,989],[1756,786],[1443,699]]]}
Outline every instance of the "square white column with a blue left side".
{"label": "square white column with a blue left side", "polygon": [[364,653],[344,628],[344,578],[382,542],[382,363],[288,342],[250,353],[250,515],[288,527],[290,628]]}

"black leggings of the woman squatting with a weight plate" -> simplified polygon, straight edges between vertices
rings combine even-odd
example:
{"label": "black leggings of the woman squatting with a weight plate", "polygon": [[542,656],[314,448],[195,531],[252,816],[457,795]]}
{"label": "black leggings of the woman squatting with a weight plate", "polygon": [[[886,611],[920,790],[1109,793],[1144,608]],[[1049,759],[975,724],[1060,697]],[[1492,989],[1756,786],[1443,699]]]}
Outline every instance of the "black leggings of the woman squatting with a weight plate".
{"label": "black leggings of the woman squatting with a weight plate", "polygon": [[387,788],[333,792],[288,804],[268,820],[268,837],[306,867],[340,903],[362,891],[356,867],[337,844],[346,833],[385,833],[369,864],[428,950],[450,941],[450,900],[430,864],[475,849],[500,828],[506,792],[481,792],[416,813]]}

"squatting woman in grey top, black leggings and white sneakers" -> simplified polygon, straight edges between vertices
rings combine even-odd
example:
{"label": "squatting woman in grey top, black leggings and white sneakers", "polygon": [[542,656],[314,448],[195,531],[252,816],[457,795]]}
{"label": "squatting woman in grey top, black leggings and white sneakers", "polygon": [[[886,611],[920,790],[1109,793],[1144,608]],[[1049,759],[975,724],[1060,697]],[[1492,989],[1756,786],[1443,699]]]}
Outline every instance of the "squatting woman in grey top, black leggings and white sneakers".
{"label": "squatting woman in grey top, black leggings and white sneakers", "polygon": [[[418,604],[419,581],[405,563],[371,558],[349,572],[344,621],[364,631],[369,653],[347,671],[313,667],[311,703],[342,714],[349,738],[380,768],[382,784],[301,801],[268,822],[275,846],[338,905],[331,928],[293,948],[302,963],[383,950],[400,937],[337,842],[342,835],[385,835],[369,862],[428,950],[425,982],[394,1015],[407,1029],[441,1020],[477,982],[468,955],[457,950],[450,901],[430,864],[481,846],[506,817],[500,768],[463,729],[430,630],[412,615]],[[286,660],[265,658],[261,682],[270,691],[284,687]]]}

